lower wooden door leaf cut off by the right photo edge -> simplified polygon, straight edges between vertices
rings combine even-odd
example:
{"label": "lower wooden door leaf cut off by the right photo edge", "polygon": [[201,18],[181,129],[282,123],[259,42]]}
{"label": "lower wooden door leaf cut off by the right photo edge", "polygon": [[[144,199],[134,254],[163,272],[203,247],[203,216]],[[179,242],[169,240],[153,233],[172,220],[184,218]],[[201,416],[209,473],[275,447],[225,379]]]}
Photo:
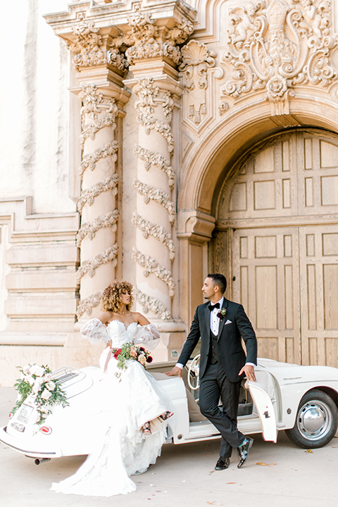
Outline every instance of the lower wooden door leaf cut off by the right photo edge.
{"label": "lower wooden door leaf cut off by the right photo edge", "polygon": [[338,367],[338,225],[299,230],[303,364]]}

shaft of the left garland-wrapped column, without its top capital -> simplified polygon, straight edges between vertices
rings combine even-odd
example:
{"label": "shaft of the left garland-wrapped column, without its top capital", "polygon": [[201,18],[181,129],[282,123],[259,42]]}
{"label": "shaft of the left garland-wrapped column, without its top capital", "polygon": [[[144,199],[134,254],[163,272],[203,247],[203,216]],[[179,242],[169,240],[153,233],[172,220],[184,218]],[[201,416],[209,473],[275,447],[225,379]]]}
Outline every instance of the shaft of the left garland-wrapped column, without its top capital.
{"label": "shaft of the left garland-wrapped column, without its top capital", "polygon": [[115,168],[118,106],[113,97],[102,94],[95,84],[82,85],[79,96],[83,106],[82,190],[77,201],[77,211],[81,213],[81,227],[77,233],[77,246],[81,251],[81,264],[76,274],[81,295],[78,317],[85,310],[90,313],[91,303],[96,306],[101,298],[102,287],[115,278],[118,256],[115,232],[119,215],[115,197],[118,192]]}

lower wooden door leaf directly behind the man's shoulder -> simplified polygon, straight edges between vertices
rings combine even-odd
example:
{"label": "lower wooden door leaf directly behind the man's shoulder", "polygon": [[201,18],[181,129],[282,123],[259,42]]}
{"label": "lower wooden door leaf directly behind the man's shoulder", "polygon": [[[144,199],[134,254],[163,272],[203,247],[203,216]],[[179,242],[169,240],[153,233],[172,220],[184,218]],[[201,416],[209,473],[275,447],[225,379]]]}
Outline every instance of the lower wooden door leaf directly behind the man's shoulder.
{"label": "lower wooden door leaf directly behind the man's shoulder", "polygon": [[232,298],[249,315],[261,357],[300,361],[298,250],[296,227],[233,233]]}

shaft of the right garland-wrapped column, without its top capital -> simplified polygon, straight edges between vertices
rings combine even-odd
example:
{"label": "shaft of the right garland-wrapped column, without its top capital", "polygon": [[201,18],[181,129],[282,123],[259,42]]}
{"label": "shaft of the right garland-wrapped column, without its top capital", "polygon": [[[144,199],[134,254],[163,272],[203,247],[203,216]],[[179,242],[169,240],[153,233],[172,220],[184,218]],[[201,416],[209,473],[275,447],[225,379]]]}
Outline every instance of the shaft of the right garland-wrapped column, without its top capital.
{"label": "shaft of the right garland-wrapped column, without its top capital", "polygon": [[[138,80],[134,86],[139,98],[135,104],[139,144],[134,149],[137,179],[133,187],[137,192],[137,209],[132,222],[137,227],[137,235],[132,258],[137,263],[137,300],[144,311],[169,319],[171,299],[175,295],[171,268],[175,259],[172,237],[175,207],[171,200],[175,173],[170,166],[174,149],[170,128],[174,101],[168,89],[156,84],[150,77]],[[144,304],[146,294],[151,294],[151,299],[146,299],[150,305]],[[155,299],[162,304],[156,304]]]}

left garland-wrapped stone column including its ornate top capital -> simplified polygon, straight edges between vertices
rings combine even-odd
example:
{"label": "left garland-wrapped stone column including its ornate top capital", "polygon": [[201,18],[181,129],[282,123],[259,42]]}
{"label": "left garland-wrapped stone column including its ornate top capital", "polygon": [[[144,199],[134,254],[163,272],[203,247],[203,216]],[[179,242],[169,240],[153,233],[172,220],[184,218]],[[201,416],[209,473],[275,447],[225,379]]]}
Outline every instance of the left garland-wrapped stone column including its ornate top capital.
{"label": "left garland-wrapped stone column including its ornate top capital", "polygon": [[[77,9],[83,8],[75,6]],[[73,9],[70,11],[73,15]],[[88,13],[89,11],[87,11]],[[77,318],[99,313],[102,290],[116,277],[118,264],[118,123],[123,105],[130,93],[123,77],[128,63],[123,51],[116,47],[118,30],[111,20],[96,27],[84,12],[75,13],[75,22],[56,25],[56,33],[66,40],[73,53],[75,77],[80,87],[71,91],[82,101],[81,163],[79,168],[81,194],[77,211],[81,215],[77,246],[80,248],[80,303]],[[87,313],[87,315],[84,315]]]}

